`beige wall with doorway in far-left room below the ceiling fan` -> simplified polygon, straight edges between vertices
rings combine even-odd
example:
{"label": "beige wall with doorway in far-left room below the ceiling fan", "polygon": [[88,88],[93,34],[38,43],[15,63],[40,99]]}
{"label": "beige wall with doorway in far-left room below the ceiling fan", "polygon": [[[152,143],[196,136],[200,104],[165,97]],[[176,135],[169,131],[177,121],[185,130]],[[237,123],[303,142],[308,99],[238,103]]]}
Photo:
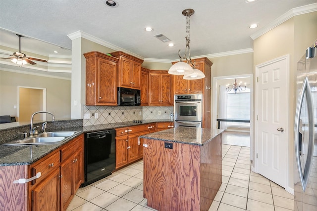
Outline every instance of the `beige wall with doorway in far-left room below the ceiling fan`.
{"label": "beige wall with doorway in far-left room below the ceiling fan", "polygon": [[[17,116],[18,86],[46,88],[46,110],[55,118],[70,119],[70,86],[64,79],[14,73],[0,70],[0,115]],[[31,118],[31,117],[30,117]]]}

